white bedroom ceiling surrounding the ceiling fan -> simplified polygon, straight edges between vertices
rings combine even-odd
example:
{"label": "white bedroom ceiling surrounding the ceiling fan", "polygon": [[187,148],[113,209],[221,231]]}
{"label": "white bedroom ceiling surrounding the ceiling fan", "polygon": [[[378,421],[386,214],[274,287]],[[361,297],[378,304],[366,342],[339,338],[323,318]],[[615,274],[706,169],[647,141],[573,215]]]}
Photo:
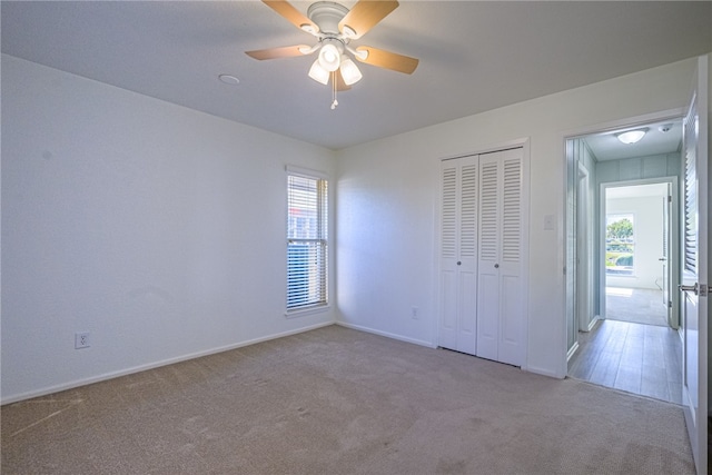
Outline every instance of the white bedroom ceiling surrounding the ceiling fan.
{"label": "white bedroom ceiling surrounding the ceiling fan", "polygon": [[[293,4],[306,13],[309,2]],[[330,89],[307,77],[313,58],[244,53],[313,40],[259,1],[2,1],[0,13],[8,55],[333,149],[712,44],[710,1],[402,1],[352,46],[417,57],[417,70],[363,65],[364,79],[330,110]]]}

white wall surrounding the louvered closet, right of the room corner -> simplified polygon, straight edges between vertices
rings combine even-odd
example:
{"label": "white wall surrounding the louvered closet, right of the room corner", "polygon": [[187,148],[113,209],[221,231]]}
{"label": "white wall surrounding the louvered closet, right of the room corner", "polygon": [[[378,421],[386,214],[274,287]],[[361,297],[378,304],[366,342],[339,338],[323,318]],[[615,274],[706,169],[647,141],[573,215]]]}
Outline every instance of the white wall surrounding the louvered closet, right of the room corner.
{"label": "white wall surrounding the louvered closet, right of the room corner", "polygon": [[[436,345],[439,160],[530,137],[525,367],[563,377],[564,137],[568,130],[684,107],[694,63],[666,65],[339,151],[339,320]],[[544,229],[546,215],[557,218],[556,230]],[[421,309],[417,320],[412,306]]]}

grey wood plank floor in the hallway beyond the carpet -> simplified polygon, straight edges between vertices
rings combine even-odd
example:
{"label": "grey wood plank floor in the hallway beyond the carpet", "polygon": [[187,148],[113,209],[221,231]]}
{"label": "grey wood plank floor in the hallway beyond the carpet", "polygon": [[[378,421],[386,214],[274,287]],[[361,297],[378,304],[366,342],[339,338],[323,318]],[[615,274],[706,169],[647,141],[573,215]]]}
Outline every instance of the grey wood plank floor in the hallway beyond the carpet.
{"label": "grey wood plank floor in the hallway beyond the carpet", "polygon": [[601,320],[578,333],[568,376],[682,404],[682,344],[669,327]]}

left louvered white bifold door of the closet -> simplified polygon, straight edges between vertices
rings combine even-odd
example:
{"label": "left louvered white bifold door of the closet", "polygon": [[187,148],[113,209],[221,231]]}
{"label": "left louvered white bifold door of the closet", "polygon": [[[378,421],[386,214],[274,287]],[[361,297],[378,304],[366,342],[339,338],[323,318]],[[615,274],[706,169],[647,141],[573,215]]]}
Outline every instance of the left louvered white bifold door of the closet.
{"label": "left louvered white bifold door of the closet", "polygon": [[441,209],[439,346],[475,354],[477,157],[444,160]]}

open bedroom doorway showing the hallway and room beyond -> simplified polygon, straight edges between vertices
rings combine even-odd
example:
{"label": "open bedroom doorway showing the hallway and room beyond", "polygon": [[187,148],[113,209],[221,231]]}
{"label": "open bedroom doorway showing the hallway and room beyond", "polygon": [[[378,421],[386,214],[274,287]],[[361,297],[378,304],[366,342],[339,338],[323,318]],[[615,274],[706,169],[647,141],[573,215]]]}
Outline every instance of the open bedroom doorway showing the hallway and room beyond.
{"label": "open bedroom doorway showing the hallway and room beyond", "polygon": [[[567,369],[681,404],[678,293],[670,291],[679,270],[670,249],[679,236],[682,122],[655,120],[566,140]],[[643,139],[622,144],[629,130]]]}

